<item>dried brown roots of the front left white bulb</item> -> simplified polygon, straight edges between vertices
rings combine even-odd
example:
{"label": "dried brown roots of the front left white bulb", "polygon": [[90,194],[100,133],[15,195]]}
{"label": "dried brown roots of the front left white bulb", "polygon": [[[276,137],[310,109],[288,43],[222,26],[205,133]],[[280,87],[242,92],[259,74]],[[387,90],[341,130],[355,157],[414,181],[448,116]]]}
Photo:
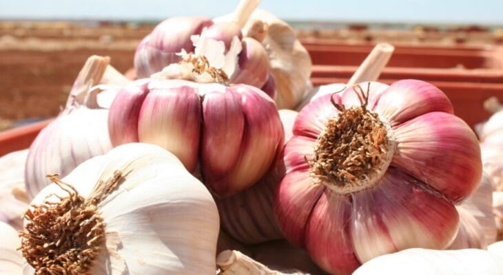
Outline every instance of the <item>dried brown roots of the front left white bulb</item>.
{"label": "dried brown roots of the front left white bulb", "polygon": [[111,179],[96,184],[88,199],[55,175],[48,177],[68,197],[54,195],[58,202],[46,200],[25,212],[29,223],[21,232],[21,252],[37,275],[86,273],[105,241],[98,204],[119,185],[121,174],[117,172]]}

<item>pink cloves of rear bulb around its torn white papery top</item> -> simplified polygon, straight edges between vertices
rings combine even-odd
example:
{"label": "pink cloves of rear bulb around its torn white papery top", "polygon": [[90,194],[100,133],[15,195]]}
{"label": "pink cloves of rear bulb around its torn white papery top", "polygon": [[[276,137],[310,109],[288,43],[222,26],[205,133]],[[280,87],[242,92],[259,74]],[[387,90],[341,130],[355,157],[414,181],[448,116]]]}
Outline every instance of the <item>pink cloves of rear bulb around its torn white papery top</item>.
{"label": "pink cloves of rear bulb around its torn white papery top", "polygon": [[190,36],[196,34],[223,41],[227,50],[234,36],[238,36],[243,50],[238,56],[238,66],[231,78],[232,83],[258,88],[267,83],[271,67],[269,56],[260,42],[250,38],[243,39],[243,34],[235,23],[214,23],[211,19],[200,17],[166,19],[145,36],[134,54],[134,67],[138,78],[147,78],[167,65],[178,63],[181,57],[176,53],[181,50],[194,52]]}

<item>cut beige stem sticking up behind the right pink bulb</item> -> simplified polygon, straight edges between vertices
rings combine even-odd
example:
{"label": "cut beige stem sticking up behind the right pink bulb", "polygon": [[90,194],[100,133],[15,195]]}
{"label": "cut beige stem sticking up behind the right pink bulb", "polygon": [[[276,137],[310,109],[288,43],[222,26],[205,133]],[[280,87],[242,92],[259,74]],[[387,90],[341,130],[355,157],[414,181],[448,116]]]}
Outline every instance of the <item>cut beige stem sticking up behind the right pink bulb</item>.
{"label": "cut beige stem sticking up behind the right pink bulb", "polygon": [[393,54],[395,47],[389,45],[388,43],[379,43],[373,47],[370,54],[365,58],[360,67],[351,76],[351,79],[347,82],[348,86],[353,86],[357,83],[362,83],[365,81],[376,81],[378,80],[382,69],[386,67],[389,58]]}

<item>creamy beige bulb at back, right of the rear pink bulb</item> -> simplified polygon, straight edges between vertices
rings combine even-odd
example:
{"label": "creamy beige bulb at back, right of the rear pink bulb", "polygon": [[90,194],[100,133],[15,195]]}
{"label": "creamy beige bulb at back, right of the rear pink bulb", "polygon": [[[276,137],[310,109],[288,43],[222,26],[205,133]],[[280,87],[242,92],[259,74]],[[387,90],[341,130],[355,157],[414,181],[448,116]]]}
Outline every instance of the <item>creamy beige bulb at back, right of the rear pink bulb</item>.
{"label": "creamy beige bulb at back, right of the rear pink bulb", "polygon": [[278,109],[294,109],[304,97],[312,70],[309,52],[298,41],[294,29],[271,12],[255,10],[243,32],[262,42],[267,50]]}

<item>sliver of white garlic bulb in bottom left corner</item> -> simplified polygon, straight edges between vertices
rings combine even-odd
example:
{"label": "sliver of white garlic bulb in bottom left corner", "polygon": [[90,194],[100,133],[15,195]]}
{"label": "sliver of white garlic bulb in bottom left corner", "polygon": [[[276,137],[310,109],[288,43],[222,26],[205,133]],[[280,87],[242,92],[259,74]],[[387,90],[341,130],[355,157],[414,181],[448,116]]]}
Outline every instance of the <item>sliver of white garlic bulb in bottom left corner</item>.
{"label": "sliver of white garlic bulb in bottom left corner", "polygon": [[19,275],[23,272],[23,256],[17,251],[21,240],[17,231],[0,221],[0,274]]}

